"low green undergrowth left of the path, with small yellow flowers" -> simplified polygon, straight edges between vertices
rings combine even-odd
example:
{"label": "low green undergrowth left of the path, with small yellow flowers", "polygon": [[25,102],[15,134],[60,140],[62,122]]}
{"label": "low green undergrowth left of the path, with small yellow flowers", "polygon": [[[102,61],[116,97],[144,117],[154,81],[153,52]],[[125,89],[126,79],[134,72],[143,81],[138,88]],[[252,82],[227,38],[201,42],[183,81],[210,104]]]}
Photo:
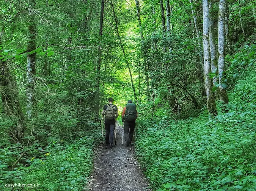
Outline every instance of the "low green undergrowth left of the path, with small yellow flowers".
{"label": "low green undergrowth left of the path, with small yellow flowers", "polygon": [[[16,151],[11,147],[1,149],[1,190],[84,190],[93,167],[94,143],[93,136],[74,140],[51,140],[46,148],[39,147],[37,152],[28,153],[31,157],[24,157],[23,164],[17,164],[14,169],[11,169],[10,164],[13,164],[11,160]],[[15,183],[38,184],[39,187],[9,187]]]}

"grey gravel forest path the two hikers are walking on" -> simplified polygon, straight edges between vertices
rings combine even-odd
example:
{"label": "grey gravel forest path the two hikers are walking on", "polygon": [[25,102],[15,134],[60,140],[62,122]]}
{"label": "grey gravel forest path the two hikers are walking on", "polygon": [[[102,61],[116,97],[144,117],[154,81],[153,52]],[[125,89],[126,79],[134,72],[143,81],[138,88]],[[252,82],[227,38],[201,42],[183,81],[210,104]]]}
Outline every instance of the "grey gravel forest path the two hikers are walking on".
{"label": "grey gravel forest path the two hikers are walking on", "polygon": [[94,169],[89,180],[90,191],[151,191],[135,159],[133,146],[122,146],[122,126],[116,126],[116,146],[95,149]]}

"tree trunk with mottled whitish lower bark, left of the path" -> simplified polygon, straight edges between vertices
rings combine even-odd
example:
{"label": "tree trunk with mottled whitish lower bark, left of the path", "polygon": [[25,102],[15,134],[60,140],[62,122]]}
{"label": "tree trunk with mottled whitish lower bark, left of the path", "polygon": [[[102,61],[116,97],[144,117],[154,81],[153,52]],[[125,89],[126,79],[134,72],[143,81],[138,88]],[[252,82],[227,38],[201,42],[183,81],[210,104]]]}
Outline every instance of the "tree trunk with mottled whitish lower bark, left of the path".
{"label": "tree trunk with mottled whitish lower bark, left of the path", "polygon": [[[36,14],[35,0],[29,1],[28,9],[28,52],[36,49]],[[31,119],[33,116],[33,104],[35,102],[35,75],[36,75],[36,53],[27,54],[27,116]]]}

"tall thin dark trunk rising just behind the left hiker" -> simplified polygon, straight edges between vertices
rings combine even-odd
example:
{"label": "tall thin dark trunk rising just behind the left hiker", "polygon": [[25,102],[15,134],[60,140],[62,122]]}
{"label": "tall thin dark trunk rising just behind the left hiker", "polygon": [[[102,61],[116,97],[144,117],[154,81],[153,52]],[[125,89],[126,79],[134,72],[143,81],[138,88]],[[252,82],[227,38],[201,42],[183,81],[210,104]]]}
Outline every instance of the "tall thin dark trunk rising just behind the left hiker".
{"label": "tall thin dark trunk rising just behind the left hiker", "polygon": [[97,89],[97,106],[96,106],[96,116],[99,115],[99,106],[100,106],[100,83],[101,83],[101,38],[102,38],[102,30],[103,30],[103,18],[104,18],[104,0],[101,0],[101,16],[100,16],[100,27],[99,27],[99,46],[98,46],[98,55],[97,55],[97,78],[96,78],[96,89]]}

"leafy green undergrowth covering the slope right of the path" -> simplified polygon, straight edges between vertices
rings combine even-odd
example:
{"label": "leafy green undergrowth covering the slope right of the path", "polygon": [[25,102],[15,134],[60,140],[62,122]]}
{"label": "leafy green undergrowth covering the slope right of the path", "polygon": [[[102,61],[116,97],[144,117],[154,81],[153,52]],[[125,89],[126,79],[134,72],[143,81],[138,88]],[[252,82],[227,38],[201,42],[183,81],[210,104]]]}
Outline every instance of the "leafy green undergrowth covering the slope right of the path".
{"label": "leafy green undergrowth covering the slope right of the path", "polygon": [[218,116],[201,111],[176,121],[158,108],[152,121],[138,120],[137,156],[155,190],[256,190],[254,50],[229,56],[229,103],[218,102]]}

